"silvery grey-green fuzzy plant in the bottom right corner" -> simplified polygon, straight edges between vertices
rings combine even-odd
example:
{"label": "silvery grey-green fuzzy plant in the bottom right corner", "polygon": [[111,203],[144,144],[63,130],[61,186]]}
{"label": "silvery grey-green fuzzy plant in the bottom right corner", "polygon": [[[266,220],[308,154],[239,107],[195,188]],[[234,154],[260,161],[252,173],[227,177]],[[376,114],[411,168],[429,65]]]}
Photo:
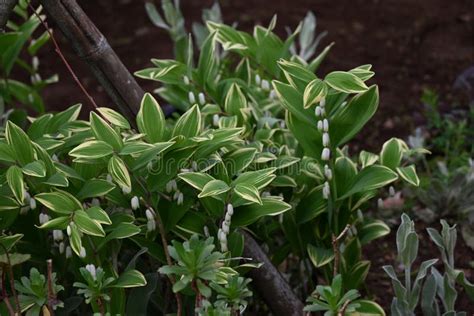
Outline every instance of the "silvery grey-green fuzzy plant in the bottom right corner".
{"label": "silvery grey-green fuzzy plant in the bottom right corner", "polygon": [[[458,296],[456,284],[464,288],[472,301],[474,301],[474,285],[466,279],[464,272],[454,266],[456,226],[449,226],[445,220],[441,220],[441,227],[441,232],[433,228],[428,228],[427,231],[441,253],[444,273],[441,274],[435,267],[431,268],[431,274],[423,288],[421,307],[425,315],[466,315],[466,312],[456,312]],[[438,300],[441,304],[438,304]]]}

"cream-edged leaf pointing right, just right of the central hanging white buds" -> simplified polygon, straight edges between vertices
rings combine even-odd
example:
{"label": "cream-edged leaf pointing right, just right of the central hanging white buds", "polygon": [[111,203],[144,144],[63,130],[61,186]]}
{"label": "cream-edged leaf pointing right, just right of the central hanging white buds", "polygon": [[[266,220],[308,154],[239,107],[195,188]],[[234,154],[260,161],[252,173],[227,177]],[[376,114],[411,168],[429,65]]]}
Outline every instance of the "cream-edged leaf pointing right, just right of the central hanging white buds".
{"label": "cream-edged leaf pointing right, just right of the central hanging white buds", "polygon": [[263,216],[275,216],[291,209],[291,205],[275,197],[262,198],[262,205],[248,204],[239,206],[232,216],[232,225],[247,226]]}

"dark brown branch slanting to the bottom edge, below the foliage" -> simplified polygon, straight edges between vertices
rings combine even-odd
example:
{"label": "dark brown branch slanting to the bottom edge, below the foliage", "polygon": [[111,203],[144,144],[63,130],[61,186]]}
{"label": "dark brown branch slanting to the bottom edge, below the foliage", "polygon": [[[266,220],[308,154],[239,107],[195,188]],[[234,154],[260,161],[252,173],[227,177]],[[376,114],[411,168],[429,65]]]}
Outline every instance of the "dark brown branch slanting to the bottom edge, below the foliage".
{"label": "dark brown branch slanting to the bottom edge, below the foliage", "polygon": [[247,232],[242,232],[245,237],[244,257],[250,257],[255,262],[263,263],[259,269],[249,271],[252,284],[274,315],[302,316],[303,303],[291,290],[283,276],[272,264],[262,248]]}

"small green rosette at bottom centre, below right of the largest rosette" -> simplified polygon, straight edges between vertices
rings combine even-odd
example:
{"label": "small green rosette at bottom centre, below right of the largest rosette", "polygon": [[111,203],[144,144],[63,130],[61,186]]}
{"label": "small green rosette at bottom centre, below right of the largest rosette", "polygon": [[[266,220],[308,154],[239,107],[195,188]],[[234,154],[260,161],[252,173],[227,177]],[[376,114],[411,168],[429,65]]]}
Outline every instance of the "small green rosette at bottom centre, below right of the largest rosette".
{"label": "small green rosette at bottom centre, below right of the largest rosette", "polygon": [[215,291],[217,297],[214,305],[220,308],[230,308],[231,311],[242,313],[247,307],[247,300],[252,296],[248,289],[251,279],[243,278],[238,275],[231,275],[225,285],[212,282],[211,288]]}

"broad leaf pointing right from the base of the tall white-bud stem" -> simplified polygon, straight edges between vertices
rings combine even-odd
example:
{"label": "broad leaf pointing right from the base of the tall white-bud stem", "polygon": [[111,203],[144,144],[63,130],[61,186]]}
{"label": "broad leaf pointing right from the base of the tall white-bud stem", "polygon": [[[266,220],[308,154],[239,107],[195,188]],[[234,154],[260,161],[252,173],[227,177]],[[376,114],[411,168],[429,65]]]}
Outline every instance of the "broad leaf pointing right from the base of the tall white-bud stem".
{"label": "broad leaf pointing right from the base of the tall white-bud stem", "polygon": [[338,200],[345,199],[355,193],[381,188],[397,179],[397,174],[387,167],[379,165],[369,166],[357,174],[349,186],[349,191],[343,196],[338,197]]}

